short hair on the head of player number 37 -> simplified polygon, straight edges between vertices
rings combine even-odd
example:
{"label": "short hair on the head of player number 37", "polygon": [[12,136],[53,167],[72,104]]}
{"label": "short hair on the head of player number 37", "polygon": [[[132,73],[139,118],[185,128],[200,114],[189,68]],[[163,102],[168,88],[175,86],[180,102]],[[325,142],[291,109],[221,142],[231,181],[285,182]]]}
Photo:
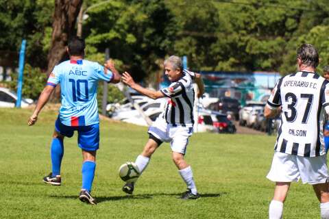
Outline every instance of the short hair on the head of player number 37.
{"label": "short hair on the head of player number 37", "polygon": [[317,53],[317,49],[311,44],[302,44],[297,49],[297,58],[302,60],[302,64],[312,66],[313,68],[317,68],[319,64],[319,53]]}

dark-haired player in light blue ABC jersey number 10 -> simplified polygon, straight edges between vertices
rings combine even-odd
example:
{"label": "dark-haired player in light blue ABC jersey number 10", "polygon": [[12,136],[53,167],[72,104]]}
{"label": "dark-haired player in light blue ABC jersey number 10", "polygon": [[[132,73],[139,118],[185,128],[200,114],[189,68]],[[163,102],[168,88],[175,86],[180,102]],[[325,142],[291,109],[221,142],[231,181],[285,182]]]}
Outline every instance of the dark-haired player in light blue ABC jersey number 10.
{"label": "dark-haired player in light blue ABC jersey number 10", "polygon": [[[47,86],[40,94],[36,109],[28,120],[34,125],[42,107],[49,100],[51,92],[60,84],[62,105],[55,123],[51,142],[52,172],[43,179],[45,183],[60,185],[60,165],[64,155],[64,137],[71,138],[77,131],[77,144],[82,149],[82,190],[80,200],[95,205],[90,195],[96,168],[96,151],[99,149],[99,115],[97,107],[97,86],[100,80],[118,83],[121,76],[114,62],[107,61],[105,68],[97,62],[84,60],[85,42],[73,38],[67,47],[70,60],[53,68]],[[110,70],[108,70],[110,69]]]}

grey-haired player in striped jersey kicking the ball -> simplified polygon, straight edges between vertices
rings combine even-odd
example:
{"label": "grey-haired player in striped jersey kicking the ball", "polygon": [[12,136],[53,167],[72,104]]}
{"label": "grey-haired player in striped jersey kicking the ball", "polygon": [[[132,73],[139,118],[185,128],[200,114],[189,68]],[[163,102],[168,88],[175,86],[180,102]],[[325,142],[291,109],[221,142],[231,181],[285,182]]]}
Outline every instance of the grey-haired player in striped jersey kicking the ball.
{"label": "grey-haired player in striped jersey kicking the ball", "polygon": [[[200,97],[204,93],[204,83],[201,75],[183,70],[182,60],[178,56],[172,55],[164,61],[165,74],[171,81],[168,88],[154,91],[143,88],[134,82],[129,73],[123,73],[123,82],[130,88],[149,96],[151,99],[169,97],[166,110],[158,116],[156,121],[149,127],[149,140],[145,144],[141,155],[136,158],[136,165],[142,173],[151,155],[158,149],[162,142],[170,142],[173,162],[178,168],[182,179],[187,185],[187,190],[181,196],[183,199],[199,198],[197,188],[193,180],[193,172],[184,160],[188,138],[193,133],[193,103],[195,92],[193,90],[193,80],[197,83],[198,93]],[[134,191],[134,183],[126,183],[123,186],[123,192],[132,194]]]}

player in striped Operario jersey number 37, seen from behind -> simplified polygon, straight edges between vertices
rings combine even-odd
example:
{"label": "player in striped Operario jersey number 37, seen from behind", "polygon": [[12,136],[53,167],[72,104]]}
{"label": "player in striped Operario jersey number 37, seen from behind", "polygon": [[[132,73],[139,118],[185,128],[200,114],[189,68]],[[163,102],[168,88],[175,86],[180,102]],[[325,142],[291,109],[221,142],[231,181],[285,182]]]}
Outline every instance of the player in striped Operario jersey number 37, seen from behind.
{"label": "player in striped Operario jersey number 37, seen from behind", "polygon": [[[319,64],[311,44],[297,49],[298,72],[282,77],[265,106],[266,117],[281,114],[281,125],[267,178],[276,182],[269,218],[282,218],[283,203],[292,181],[313,185],[321,218],[329,218],[329,189],[324,118],[329,114],[329,81],[315,73]],[[307,204],[309,205],[309,203]]]}

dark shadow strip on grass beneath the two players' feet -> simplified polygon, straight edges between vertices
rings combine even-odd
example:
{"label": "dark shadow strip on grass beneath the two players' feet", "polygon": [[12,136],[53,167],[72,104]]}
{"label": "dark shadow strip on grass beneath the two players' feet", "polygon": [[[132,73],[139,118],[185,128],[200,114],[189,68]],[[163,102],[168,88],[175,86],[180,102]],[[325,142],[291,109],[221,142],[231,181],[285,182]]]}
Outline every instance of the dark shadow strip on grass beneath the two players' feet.
{"label": "dark shadow strip on grass beneath the two players' feet", "polygon": [[[202,198],[217,198],[222,195],[228,194],[227,192],[219,192],[219,193],[205,193],[200,194]],[[181,196],[180,193],[154,193],[154,194],[136,194],[136,195],[123,195],[123,196],[95,196],[97,203],[102,203],[106,201],[121,201],[124,199],[151,199],[156,196],[175,196],[175,198],[179,198]],[[58,196],[51,195],[51,198],[71,198],[77,199],[77,196]]]}

